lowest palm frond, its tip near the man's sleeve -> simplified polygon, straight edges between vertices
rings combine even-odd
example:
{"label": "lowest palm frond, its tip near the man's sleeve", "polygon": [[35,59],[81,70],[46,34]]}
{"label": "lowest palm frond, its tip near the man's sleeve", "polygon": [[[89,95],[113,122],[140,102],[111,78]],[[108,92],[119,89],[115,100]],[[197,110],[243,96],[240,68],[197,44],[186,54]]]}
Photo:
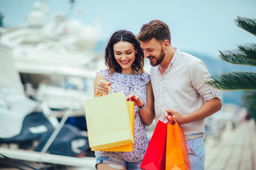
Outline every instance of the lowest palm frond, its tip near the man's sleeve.
{"label": "lowest palm frond, its tip near the man's sleeve", "polygon": [[256,73],[231,72],[220,74],[218,77],[207,79],[206,84],[220,90],[256,90]]}

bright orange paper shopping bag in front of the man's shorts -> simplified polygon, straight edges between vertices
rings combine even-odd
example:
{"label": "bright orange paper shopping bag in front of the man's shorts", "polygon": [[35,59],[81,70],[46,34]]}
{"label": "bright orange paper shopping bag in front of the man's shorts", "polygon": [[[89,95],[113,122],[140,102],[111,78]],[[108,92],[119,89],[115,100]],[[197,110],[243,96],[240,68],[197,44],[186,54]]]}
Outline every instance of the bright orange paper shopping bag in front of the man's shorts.
{"label": "bright orange paper shopping bag in front of the man's shorts", "polygon": [[166,169],[189,170],[188,150],[182,128],[176,120],[174,125],[167,123],[166,137]]}

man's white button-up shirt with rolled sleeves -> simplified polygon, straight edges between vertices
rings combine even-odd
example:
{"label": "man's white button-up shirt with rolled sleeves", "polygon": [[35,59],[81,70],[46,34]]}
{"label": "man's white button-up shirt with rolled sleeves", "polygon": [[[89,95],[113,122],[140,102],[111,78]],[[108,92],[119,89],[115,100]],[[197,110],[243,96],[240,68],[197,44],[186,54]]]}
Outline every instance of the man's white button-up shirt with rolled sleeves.
{"label": "man's white button-up shirt with rolled sleeves", "polygon": [[[150,74],[156,123],[164,120],[166,109],[189,114],[212,98],[220,99],[218,91],[204,82],[210,73],[202,60],[176,49],[169,67],[162,75],[159,66],[151,67]],[[183,124],[181,128],[185,135],[204,132],[204,120]]]}

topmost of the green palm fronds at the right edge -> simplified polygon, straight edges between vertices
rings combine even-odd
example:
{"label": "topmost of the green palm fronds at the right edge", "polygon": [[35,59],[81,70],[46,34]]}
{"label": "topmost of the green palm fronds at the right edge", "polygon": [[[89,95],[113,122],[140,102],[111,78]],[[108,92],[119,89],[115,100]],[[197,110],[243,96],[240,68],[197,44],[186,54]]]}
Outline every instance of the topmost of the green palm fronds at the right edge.
{"label": "topmost of the green palm fronds at the right edge", "polygon": [[256,19],[255,18],[250,19],[250,18],[238,16],[238,18],[235,19],[235,24],[238,27],[256,36]]}

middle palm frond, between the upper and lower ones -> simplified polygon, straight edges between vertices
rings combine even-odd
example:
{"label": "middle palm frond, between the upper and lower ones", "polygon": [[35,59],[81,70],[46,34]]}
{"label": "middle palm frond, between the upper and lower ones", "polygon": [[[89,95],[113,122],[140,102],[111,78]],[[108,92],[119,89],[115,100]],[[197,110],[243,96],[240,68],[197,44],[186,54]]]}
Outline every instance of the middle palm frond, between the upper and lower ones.
{"label": "middle palm frond, between the upper and lower ones", "polygon": [[231,64],[256,66],[256,45],[238,46],[238,50],[220,52],[220,59]]}

